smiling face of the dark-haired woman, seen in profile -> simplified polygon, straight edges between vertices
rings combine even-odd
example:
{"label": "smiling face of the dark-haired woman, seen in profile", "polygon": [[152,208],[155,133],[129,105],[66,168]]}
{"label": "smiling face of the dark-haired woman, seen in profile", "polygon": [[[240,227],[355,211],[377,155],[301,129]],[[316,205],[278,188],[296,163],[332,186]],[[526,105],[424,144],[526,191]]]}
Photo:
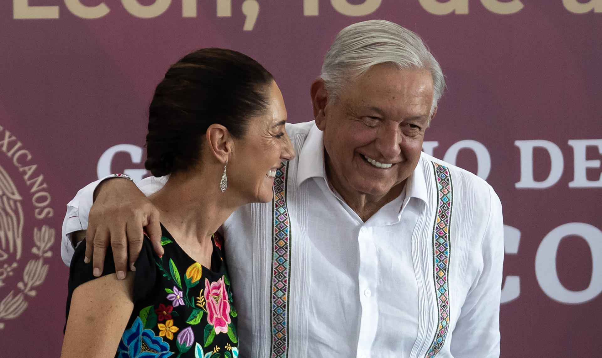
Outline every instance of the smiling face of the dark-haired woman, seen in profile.
{"label": "smiling face of the dark-haired woman, seen in profile", "polygon": [[287,109],[276,82],[267,93],[267,111],[249,119],[246,134],[234,141],[234,156],[228,163],[228,190],[238,191],[247,202],[272,200],[276,170],[295,156],[285,130]]}

